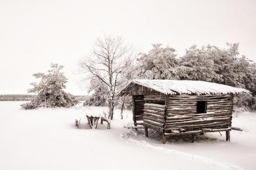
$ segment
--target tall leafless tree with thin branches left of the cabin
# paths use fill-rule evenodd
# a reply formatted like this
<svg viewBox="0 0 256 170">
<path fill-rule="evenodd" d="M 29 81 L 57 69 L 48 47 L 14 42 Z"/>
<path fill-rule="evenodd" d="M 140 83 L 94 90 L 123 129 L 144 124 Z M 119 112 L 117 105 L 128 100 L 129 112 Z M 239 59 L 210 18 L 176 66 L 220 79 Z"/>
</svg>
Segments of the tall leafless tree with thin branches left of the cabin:
<svg viewBox="0 0 256 170">
<path fill-rule="evenodd" d="M 98 78 L 108 87 L 106 94 L 109 106 L 109 118 L 113 118 L 117 104 L 117 90 L 123 83 L 123 72 L 129 69 L 133 56 L 133 48 L 125 44 L 122 37 L 104 36 L 94 44 L 91 56 L 81 61 L 81 70 Z"/>
</svg>

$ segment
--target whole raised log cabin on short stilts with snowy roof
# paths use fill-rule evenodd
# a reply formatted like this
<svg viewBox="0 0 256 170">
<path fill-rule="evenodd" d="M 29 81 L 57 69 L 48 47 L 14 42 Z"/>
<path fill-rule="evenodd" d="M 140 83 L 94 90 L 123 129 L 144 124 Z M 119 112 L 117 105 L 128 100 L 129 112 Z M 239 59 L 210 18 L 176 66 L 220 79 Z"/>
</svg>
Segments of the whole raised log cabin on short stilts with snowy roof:
<svg viewBox="0 0 256 170">
<path fill-rule="evenodd" d="M 233 94 L 249 92 L 223 84 L 193 80 L 132 80 L 120 95 L 133 98 L 134 125 L 166 136 L 226 131 L 230 141 Z M 138 127 L 138 126 L 137 126 Z M 136 127 L 135 127 L 136 128 Z"/>
</svg>

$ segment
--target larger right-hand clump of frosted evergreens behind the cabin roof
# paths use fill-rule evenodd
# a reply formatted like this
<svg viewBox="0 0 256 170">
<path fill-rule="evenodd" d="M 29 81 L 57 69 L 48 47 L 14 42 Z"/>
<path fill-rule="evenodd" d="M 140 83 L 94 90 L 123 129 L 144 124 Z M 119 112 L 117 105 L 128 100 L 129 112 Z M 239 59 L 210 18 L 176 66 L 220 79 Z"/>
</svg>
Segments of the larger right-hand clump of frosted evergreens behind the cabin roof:
<svg viewBox="0 0 256 170">
<path fill-rule="evenodd" d="M 181 57 L 179 65 L 187 70 L 180 79 L 205 80 L 250 90 L 252 94 L 235 96 L 237 107 L 253 109 L 256 107 L 256 67 L 245 56 L 239 56 L 238 43 L 227 43 L 227 49 L 216 46 L 189 48 Z"/>
</svg>

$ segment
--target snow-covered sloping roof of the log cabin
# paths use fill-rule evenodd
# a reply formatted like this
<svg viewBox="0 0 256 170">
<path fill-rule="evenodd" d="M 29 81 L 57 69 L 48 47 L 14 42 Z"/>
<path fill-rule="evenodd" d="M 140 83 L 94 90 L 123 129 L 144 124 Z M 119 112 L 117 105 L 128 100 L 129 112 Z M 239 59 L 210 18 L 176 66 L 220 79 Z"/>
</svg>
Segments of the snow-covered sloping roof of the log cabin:
<svg viewBox="0 0 256 170">
<path fill-rule="evenodd" d="M 207 95 L 207 94 L 238 94 L 248 93 L 250 91 L 243 88 L 236 88 L 226 86 L 224 84 L 210 83 L 196 80 L 159 80 L 159 79 L 134 79 L 119 93 L 124 91 L 131 84 L 138 84 L 158 91 L 166 95 L 181 95 L 181 94 L 196 94 L 196 95 Z"/>
</svg>

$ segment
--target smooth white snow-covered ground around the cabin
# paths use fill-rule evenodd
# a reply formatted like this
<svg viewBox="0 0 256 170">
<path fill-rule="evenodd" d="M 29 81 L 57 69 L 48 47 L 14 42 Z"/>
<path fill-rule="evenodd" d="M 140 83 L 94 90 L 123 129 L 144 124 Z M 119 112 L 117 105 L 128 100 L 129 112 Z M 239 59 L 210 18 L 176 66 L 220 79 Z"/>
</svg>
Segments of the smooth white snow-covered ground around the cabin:
<svg viewBox="0 0 256 170">
<path fill-rule="evenodd" d="M 231 142 L 225 133 L 167 138 L 149 131 L 123 128 L 116 110 L 111 129 L 98 124 L 89 129 L 85 113 L 101 113 L 103 107 L 71 109 L 19 109 L 20 101 L 0 102 L 0 169 L 256 169 L 256 113 L 233 116 Z M 81 129 L 75 119 L 82 118 Z"/>
</svg>

